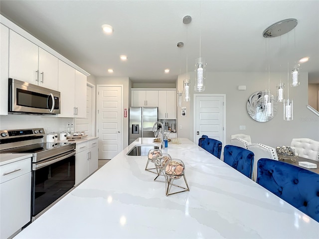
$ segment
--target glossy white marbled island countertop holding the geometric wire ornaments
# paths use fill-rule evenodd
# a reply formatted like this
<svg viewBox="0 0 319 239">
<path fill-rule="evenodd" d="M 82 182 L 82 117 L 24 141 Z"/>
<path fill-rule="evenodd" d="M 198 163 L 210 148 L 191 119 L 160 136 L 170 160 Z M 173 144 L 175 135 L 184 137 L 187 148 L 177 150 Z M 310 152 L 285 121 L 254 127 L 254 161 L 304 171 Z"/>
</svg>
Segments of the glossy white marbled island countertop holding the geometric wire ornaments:
<svg viewBox="0 0 319 239">
<path fill-rule="evenodd" d="M 188 139 L 164 152 L 184 162 L 190 191 L 166 197 L 147 156 L 126 155 L 152 141 L 137 139 L 15 238 L 319 238 L 318 222 Z"/>
</svg>

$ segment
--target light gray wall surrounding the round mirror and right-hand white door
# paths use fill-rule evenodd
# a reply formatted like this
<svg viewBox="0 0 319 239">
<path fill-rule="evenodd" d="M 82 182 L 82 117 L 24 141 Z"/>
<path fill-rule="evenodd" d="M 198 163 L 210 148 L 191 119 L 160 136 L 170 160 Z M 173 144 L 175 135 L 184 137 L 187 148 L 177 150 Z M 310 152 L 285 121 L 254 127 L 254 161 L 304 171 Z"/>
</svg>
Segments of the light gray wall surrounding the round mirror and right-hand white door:
<svg viewBox="0 0 319 239">
<path fill-rule="evenodd" d="M 187 107 L 187 116 L 180 116 L 177 112 L 178 137 L 187 137 L 193 140 L 193 94 L 194 73 L 188 73 L 191 79 L 191 102 L 182 103 Z M 282 81 L 287 85 L 286 74 L 282 74 Z M 276 96 L 276 84 L 279 83 L 281 74 L 271 73 L 271 92 Z M 178 77 L 177 90 L 182 90 L 182 81 L 185 75 Z M 263 91 L 268 77 L 265 73 L 258 72 L 206 72 L 206 90 L 202 94 L 226 95 L 226 142 L 230 143 L 230 135 L 245 133 L 251 136 L 252 142 L 264 143 L 272 147 L 290 145 L 292 138 L 308 137 L 319 141 L 319 118 L 307 109 L 308 104 L 308 74 L 301 73 L 301 85 L 290 87 L 290 97 L 294 100 L 294 120 L 283 119 L 283 105 L 278 103 L 277 115 L 268 122 L 257 122 L 252 119 L 246 110 L 249 96 L 254 92 Z M 245 91 L 237 90 L 240 85 L 245 85 Z M 267 84 L 268 85 L 268 84 Z M 196 92 L 196 94 L 200 94 Z M 287 94 L 287 88 L 286 88 Z M 179 129 L 182 125 L 182 129 Z M 239 130 L 239 125 L 246 125 L 246 130 Z"/>
</svg>

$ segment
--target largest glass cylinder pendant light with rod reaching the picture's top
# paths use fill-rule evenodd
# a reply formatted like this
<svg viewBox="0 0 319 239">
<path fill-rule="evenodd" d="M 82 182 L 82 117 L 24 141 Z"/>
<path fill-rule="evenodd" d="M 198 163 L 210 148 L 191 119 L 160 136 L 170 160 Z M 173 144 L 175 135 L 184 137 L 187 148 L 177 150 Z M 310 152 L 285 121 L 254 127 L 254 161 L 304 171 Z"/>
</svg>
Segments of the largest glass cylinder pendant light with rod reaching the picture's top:
<svg viewBox="0 0 319 239">
<path fill-rule="evenodd" d="M 206 62 L 203 57 L 200 56 L 201 53 L 201 29 L 200 29 L 200 1 L 199 1 L 199 58 L 195 60 L 195 86 L 194 90 L 196 92 L 205 91 L 205 68 Z"/>
</svg>

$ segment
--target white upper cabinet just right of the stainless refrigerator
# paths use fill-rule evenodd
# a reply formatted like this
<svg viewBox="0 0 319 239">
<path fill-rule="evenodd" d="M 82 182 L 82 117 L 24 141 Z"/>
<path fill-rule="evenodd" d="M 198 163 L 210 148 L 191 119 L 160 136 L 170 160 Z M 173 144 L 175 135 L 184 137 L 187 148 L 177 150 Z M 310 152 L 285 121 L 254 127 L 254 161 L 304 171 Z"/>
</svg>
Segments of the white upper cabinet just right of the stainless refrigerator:
<svg viewBox="0 0 319 239">
<path fill-rule="evenodd" d="M 159 91 L 159 119 L 176 119 L 176 91 Z"/>
</svg>

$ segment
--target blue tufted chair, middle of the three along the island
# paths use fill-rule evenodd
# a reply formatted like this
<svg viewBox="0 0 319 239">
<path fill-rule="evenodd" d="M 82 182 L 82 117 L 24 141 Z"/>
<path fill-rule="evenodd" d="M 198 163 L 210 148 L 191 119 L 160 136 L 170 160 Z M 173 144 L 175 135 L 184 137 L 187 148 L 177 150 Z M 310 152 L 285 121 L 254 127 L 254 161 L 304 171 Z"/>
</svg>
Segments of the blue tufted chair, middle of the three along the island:
<svg viewBox="0 0 319 239">
<path fill-rule="evenodd" d="M 224 162 L 245 176 L 252 178 L 254 165 L 252 151 L 235 145 L 226 145 L 224 147 Z"/>
</svg>

